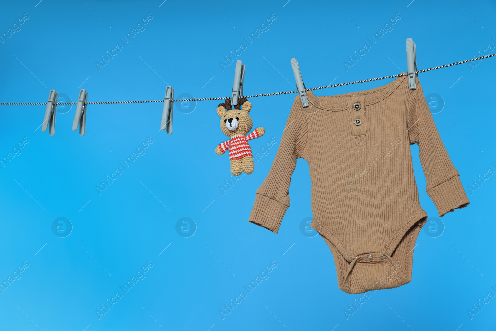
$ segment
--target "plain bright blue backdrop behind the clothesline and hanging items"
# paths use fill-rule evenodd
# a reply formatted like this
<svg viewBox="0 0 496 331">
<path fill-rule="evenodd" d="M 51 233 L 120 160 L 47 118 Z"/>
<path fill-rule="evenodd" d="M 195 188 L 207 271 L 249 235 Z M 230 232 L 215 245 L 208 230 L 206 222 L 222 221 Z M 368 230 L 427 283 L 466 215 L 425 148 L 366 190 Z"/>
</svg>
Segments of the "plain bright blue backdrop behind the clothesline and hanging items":
<svg viewBox="0 0 496 331">
<path fill-rule="evenodd" d="M 2 1 L 1 34 L 23 13 L 29 19 L 0 46 L 0 102 L 46 102 L 50 89 L 75 102 L 80 88 L 89 101 L 159 100 L 167 85 L 176 97 L 230 96 L 234 65 L 223 71 L 219 63 L 247 45 L 244 38 L 272 13 L 269 30 L 239 56 L 247 66 L 245 94 L 294 90 L 293 57 L 310 88 L 406 71 L 408 37 L 417 43 L 419 69 L 496 46 L 494 1 L 161 2 Z M 95 62 L 148 13 L 145 30 L 99 71 Z M 393 30 L 347 71 L 343 63 L 395 13 L 401 19 Z M 277 235 L 247 219 L 279 142 L 222 195 L 231 174 L 228 157 L 214 152 L 226 139 L 215 113 L 219 101 L 197 102 L 189 114 L 193 105 L 182 105 L 183 113 L 176 103 L 172 135 L 159 132 L 162 103 L 89 105 L 83 137 L 70 129 L 75 106 L 60 108 L 54 136 L 37 129 L 45 106 L 0 106 L 1 157 L 29 139 L 0 170 L 0 280 L 29 263 L 0 294 L 0 329 L 494 330 L 496 299 L 472 319 L 468 313 L 489 292 L 496 295 L 496 177 L 469 190 L 488 168 L 496 170 L 496 59 L 475 64 L 419 75 L 426 95 L 437 93 L 444 103 L 434 121 L 471 203 L 442 218 L 441 236 L 420 233 L 411 283 L 369 292 L 348 319 L 344 311 L 363 294 L 339 290 L 327 245 L 300 231 L 311 217 L 305 160 L 292 177 L 291 208 Z M 254 151 L 271 137 L 280 141 L 294 97 L 250 100 L 254 127 L 266 129 L 250 142 Z M 146 153 L 99 196 L 95 186 L 147 137 L 153 143 Z M 412 157 L 421 204 L 434 219 L 416 145 Z M 58 217 L 73 226 L 65 238 L 52 232 Z M 196 224 L 189 238 L 176 231 L 182 217 Z M 95 310 L 148 261 L 146 278 L 99 319 Z M 272 261 L 270 277 L 223 319 L 219 310 Z"/>
</svg>

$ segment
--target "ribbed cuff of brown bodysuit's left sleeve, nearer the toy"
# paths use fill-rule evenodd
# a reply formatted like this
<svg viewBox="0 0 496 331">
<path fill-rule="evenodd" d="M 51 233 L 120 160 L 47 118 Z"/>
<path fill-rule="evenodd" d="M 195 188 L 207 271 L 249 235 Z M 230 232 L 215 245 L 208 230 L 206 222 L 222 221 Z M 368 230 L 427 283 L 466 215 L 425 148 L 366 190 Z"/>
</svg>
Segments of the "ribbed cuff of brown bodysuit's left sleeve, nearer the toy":
<svg viewBox="0 0 496 331">
<path fill-rule="evenodd" d="M 284 214 L 286 213 L 286 209 L 288 209 L 287 205 L 261 194 L 257 194 L 248 222 L 263 226 L 264 228 L 277 233 Z"/>
</svg>

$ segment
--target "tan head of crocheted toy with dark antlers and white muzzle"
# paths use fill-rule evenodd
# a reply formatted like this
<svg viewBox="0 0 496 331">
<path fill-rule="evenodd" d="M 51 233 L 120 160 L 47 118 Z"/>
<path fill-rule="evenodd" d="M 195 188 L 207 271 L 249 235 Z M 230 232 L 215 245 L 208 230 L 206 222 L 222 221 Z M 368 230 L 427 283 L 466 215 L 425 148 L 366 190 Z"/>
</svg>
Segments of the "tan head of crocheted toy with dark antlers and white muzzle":
<svg viewBox="0 0 496 331">
<path fill-rule="evenodd" d="M 220 116 L 220 128 L 228 137 L 234 135 L 246 135 L 253 126 L 251 117 L 248 115 L 251 103 L 246 98 L 238 99 L 238 105 L 231 106 L 231 99 L 217 107 L 217 115 Z"/>
</svg>

